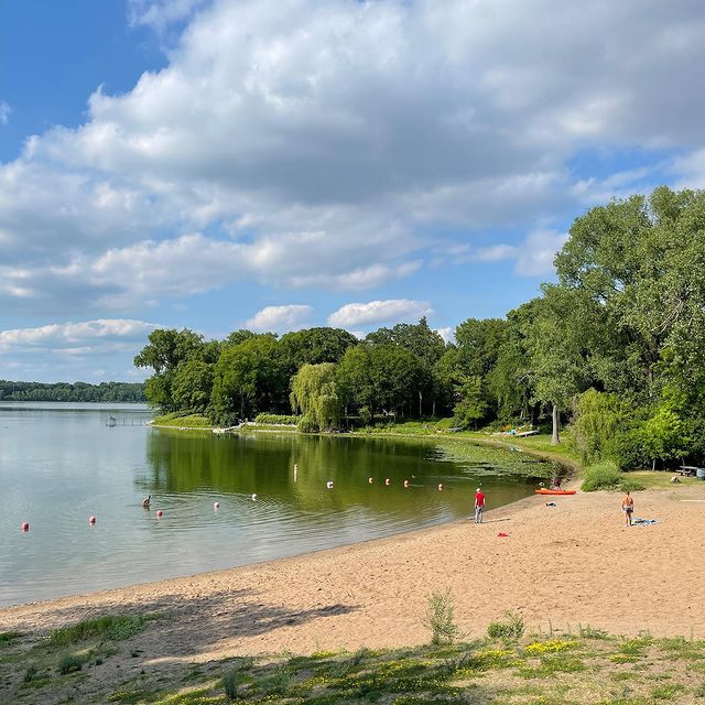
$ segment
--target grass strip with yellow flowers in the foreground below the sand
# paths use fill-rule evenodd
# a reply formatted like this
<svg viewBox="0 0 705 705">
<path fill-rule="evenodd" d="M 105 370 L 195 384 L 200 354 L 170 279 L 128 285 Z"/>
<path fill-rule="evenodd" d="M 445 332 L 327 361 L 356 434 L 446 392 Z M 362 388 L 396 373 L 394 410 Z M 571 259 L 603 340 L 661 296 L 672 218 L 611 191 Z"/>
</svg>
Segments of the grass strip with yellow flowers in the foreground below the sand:
<svg viewBox="0 0 705 705">
<path fill-rule="evenodd" d="M 84 620 L 34 646 L 17 637 L 6 639 L 0 702 L 679 705 L 705 697 L 704 674 L 693 668 L 705 663 L 705 641 L 684 637 L 622 638 L 586 627 L 582 636 L 556 630 L 536 638 L 522 636 L 523 629 L 517 627 L 520 618 L 510 616 L 498 622 L 514 625 L 509 636 L 502 631 L 499 638 L 470 642 L 355 652 L 318 650 L 310 655 L 238 657 L 198 664 L 147 658 L 129 671 L 130 653 L 142 651 L 134 638 L 145 622 L 126 617 Z M 100 677 L 91 680 L 98 661 L 94 643 L 100 639 L 121 649 L 122 668 L 104 666 Z M 7 660 L 7 655 L 22 658 Z"/>
</svg>

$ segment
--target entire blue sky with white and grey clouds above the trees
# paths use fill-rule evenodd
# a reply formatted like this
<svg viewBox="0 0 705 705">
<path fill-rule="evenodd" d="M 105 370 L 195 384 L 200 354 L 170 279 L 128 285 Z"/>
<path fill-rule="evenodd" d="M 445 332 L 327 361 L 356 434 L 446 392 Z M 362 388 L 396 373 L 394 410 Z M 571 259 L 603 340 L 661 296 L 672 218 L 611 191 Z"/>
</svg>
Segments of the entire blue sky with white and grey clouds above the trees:
<svg viewBox="0 0 705 705">
<path fill-rule="evenodd" d="M 699 0 L 0 0 L 0 379 L 503 316 L 588 208 L 705 187 L 704 69 Z"/>
</svg>

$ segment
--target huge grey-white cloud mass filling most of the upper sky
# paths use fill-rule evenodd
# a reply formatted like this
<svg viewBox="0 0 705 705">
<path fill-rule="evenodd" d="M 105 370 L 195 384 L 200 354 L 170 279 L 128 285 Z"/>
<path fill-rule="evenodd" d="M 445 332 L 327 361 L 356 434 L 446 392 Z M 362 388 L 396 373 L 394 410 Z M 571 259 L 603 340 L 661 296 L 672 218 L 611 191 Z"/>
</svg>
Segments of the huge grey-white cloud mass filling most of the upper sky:
<svg viewBox="0 0 705 705">
<path fill-rule="evenodd" d="M 702 180 L 697 0 L 129 11 L 187 26 L 165 68 L 96 90 L 85 124 L 0 164 L 1 303 L 124 307 L 243 280 L 373 289 L 416 271 L 440 229 L 470 245 L 487 228 L 523 235 L 648 182 L 577 175 L 585 151 L 677 152 L 674 178 Z M 517 253 L 518 273 L 542 271 L 542 242 Z"/>
</svg>

